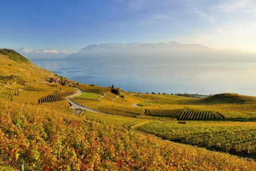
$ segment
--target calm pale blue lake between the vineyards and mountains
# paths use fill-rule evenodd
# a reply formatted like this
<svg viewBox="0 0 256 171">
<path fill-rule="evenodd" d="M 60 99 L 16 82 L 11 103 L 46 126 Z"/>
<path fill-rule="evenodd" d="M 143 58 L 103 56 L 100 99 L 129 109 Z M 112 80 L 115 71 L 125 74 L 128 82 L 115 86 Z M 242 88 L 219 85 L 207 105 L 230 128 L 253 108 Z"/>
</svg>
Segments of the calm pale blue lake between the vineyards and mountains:
<svg viewBox="0 0 256 171">
<path fill-rule="evenodd" d="M 143 93 L 234 92 L 256 96 L 256 63 L 111 63 L 33 61 L 68 79 Z"/>
</svg>

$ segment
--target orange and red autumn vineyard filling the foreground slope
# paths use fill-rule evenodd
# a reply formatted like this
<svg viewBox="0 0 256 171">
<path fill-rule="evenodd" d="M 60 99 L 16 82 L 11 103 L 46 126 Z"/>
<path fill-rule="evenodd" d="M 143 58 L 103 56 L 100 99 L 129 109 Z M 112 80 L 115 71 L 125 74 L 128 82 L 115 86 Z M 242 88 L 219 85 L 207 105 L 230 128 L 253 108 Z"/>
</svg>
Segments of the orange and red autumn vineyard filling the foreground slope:
<svg viewBox="0 0 256 171">
<path fill-rule="evenodd" d="M 143 136 L 121 126 L 124 123 L 124 127 L 131 128 L 141 124 L 142 120 L 133 119 L 129 124 L 128 117 L 118 119 L 120 116 L 113 116 L 113 119 L 105 118 L 103 123 L 99 123 L 87 120 L 86 113 L 76 116 L 51 105 L 0 100 L 0 106 L 0 170 L 7 166 L 9 170 L 19 169 L 21 164 L 26 170 L 256 168 L 254 161 L 156 140 L 153 136 Z M 89 117 L 95 117 L 94 113 Z M 109 123 L 111 120 L 113 124 Z"/>
</svg>

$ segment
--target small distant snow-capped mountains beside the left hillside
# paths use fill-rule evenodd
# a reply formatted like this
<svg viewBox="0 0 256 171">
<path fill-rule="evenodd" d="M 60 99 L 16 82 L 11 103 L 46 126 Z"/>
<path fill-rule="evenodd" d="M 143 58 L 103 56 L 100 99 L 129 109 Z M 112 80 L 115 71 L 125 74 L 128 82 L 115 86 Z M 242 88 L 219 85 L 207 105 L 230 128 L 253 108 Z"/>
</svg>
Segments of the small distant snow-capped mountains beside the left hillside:
<svg viewBox="0 0 256 171">
<path fill-rule="evenodd" d="M 16 48 L 15 51 L 25 56 L 29 60 L 65 60 L 70 54 L 66 51 L 48 50 L 31 50 L 25 47 Z"/>
</svg>

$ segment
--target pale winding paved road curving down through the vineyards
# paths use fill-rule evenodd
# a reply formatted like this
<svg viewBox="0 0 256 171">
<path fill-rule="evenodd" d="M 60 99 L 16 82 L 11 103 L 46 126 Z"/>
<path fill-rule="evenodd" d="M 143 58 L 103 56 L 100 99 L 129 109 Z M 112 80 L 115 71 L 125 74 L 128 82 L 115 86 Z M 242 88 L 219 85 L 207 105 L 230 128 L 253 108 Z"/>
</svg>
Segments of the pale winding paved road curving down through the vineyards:
<svg viewBox="0 0 256 171">
<path fill-rule="evenodd" d="M 84 109 L 84 110 L 89 111 L 89 112 L 101 113 L 101 114 L 105 114 L 105 115 L 112 115 L 112 114 L 109 114 L 109 113 L 104 113 L 104 112 L 96 111 L 95 109 L 88 108 L 86 106 L 77 104 L 74 101 L 70 100 L 70 97 L 75 97 L 75 96 L 79 96 L 79 95 L 82 94 L 82 91 L 79 88 L 75 88 L 75 89 L 78 89 L 78 93 L 66 97 L 66 100 L 68 101 L 68 103 L 70 103 L 72 105 L 71 108 L 73 108 L 75 110 L 75 114 L 79 114 L 79 113 L 76 112 L 76 111 L 79 111 L 79 109 Z"/>
</svg>

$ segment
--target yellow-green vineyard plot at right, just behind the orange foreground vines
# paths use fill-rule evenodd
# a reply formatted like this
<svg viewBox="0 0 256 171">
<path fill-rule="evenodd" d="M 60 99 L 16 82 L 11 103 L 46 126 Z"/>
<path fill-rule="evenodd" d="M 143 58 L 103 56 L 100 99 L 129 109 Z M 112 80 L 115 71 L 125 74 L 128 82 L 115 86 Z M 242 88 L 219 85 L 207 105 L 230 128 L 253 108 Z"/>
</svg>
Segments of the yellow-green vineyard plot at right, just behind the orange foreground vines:
<svg viewBox="0 0 256 171">
<path fill-rule="evenodd" d="M 152 121 L 138 127 L 137 130 L 179 143 L 200 145 L 208 149 L 228 152 L 246 152 L 256 154 L 255 123 L 198 123 Z M 256 157 L 256 156 L 255 156 Z"/>
</svg>

